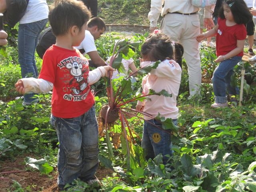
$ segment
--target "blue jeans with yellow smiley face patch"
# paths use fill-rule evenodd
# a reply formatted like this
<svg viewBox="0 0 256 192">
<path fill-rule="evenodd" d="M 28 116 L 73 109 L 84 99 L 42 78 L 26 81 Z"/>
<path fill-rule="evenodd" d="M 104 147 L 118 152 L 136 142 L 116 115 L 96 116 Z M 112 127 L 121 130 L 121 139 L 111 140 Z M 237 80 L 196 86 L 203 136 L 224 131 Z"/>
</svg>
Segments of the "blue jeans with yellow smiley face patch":
<svg viewBox="0 0 256 192">
<path fill-rule="evenodd" d="M 172 122 L 177 125 L 177 119 Z M 168 130 L 163 130 L 162 124 L 154 119 L 144 121 L 141 146 L 146 153 L 146 160 L 154 159 L 161 153 L 163 163 L 166 164 L 168 161 L 166 155 L 172 155 L 171 133 Z"/>
</svg>

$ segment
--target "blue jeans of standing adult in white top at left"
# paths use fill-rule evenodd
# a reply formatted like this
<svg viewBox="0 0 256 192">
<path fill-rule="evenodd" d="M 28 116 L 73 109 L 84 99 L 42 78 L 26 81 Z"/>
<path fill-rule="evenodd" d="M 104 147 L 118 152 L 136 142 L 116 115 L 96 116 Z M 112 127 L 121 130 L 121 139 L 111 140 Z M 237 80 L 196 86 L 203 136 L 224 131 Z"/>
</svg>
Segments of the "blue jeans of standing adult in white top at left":
<svg viewBox="0 0 256 192">
<path fill-rule="evenodd" d="M 38 44 L 40 32 L 46 26 L 48 19 L 20 24 L 18 30 L 18 61 L 21 68 L 22 78 L 37 77 L 38 70 L 36 67 L 35 51 Z M 35 98 L 34 93 L 24 95 L 24 103 L 30 104 Z"/>
</svg>

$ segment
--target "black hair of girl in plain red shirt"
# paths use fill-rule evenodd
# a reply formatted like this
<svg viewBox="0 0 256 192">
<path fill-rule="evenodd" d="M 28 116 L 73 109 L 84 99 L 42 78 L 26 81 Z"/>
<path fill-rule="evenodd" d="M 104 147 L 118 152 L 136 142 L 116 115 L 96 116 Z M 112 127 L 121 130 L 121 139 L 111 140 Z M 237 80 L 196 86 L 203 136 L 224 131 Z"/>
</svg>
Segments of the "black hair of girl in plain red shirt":
<svg viewBox="0 0 256 192">
<path fill-rule="evenodd" d="M 228 4 L 236 24 L 246 24 L 252 19 L 252 14 L 244 0 L 224 0 L 218 14 L 220 18 L 225 18 L 223 8 L 224 4 Z"/>
</svg>

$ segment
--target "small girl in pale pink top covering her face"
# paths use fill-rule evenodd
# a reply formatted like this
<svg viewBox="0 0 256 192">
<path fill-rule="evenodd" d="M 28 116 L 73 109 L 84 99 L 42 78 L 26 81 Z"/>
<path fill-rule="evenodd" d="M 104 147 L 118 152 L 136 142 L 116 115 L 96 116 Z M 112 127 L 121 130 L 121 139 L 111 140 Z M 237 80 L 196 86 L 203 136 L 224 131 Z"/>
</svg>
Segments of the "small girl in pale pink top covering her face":
<svg viewBox="0 0 256 192">
<path fill-rule="evenodd" d="M 143 93 L 148 94 L 150 89 L 155 92 L 166 90 L 168 94 L 172 94 L 172 97 L 148 96 L 148 99 L 138 101 L 137 110 L 146 112 L 152 117 L 160 114 L 165 119 L 171 118 L 173 123 L 177 125 L 176 97 L 180 88 L 181 67 L 174 59 L 181 63 L 182 54 L 182 45 L 172 43 L 164 34 L 154 32 L 146 39 L 141 47 L 140 67 L 145 67 L 158 60 L 161 62 L 156 69 L 152 69 L 150 73 L 144 76 L 142 80 Z M 172 155 L 171 134 L 169 130 L 163 130 L 161 122 L 152 117 L 144 115 L 142 148 L 146 152 L 147 160 L 153 159 L 161 153 L 163 163 L 166 164 L 168 156 Z"/>
</svg>

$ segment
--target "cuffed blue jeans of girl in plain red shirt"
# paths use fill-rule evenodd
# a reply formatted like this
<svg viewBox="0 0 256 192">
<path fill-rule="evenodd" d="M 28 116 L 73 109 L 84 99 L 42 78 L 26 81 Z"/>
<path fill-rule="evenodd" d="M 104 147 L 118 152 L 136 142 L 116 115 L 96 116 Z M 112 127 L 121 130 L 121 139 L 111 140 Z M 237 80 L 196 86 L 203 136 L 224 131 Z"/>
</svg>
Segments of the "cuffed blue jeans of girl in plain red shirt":
<svg viewBox="0 0 256 192">
<path fill-rule="evenodd" d="M 241 56 L 234 56 L 220 62 L 216 67 L 212 77 L 213 91 L 216 103 L 226 103 L 226 92 L 230 95 L 238 95 L 239 88 L 231 86 L 231 76 L 234 73 L 234 67 L 242 60 Z"/>
</svg>

